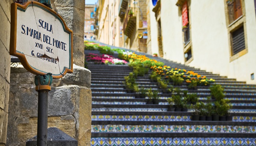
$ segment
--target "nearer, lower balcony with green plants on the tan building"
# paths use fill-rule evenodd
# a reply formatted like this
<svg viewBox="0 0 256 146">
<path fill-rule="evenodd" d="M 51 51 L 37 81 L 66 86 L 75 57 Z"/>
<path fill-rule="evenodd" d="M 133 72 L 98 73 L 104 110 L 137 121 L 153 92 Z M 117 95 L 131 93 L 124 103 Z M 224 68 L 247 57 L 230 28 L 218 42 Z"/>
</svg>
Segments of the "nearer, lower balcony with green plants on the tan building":
<svg viewBox="0 0 256 146">
<path fill-rule="evenodd" d="M 136 8 L 129 8 L 126 14 L 125 22 L 123 23 L 123 29 L 125 30 L 125 35 L 129 38 L 133 33 L 133 29 L 136 28 Z"/>
</svg>

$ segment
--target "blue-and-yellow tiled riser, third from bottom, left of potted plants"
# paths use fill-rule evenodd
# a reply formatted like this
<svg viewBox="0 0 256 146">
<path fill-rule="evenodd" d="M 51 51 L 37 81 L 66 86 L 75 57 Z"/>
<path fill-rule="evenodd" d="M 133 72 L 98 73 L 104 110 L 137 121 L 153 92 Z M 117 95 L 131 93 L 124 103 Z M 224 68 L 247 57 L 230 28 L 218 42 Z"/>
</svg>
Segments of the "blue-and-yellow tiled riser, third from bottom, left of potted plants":
<svg viewBox="0 0 256 146">
<path fill-rule="evenodd" d="M 191 121 L 179 115 L 92 115 L 92 121 Z"/>
</svg>

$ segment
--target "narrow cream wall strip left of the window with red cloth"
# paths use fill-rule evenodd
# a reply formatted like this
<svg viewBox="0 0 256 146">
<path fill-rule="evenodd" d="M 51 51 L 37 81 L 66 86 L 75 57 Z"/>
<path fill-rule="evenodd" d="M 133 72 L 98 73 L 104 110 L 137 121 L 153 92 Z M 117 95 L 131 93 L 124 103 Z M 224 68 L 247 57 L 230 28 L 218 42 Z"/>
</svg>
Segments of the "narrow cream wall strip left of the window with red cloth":
<svg viewBox="0 0 256 146">
<path fill-rule="evenodd" d="M 175 0 L 161 0 L 161 3 L 163 58 L 184 63 L 182 19 L 179 8 L 175 5 Z"/>
</svg>

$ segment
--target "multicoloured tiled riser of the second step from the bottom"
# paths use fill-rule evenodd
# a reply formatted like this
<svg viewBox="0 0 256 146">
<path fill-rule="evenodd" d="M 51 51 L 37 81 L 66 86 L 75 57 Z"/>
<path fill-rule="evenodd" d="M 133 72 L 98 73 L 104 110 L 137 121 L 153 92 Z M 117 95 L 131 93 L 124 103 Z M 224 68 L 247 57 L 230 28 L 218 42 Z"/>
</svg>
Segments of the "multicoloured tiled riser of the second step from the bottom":
<svg viewBox="0 0 256 146">
<path fill-rule="evenodd" d="M 92 132 L 256 133 L 256 126 L 230 125 L 92 125 Z"/>
</svg>

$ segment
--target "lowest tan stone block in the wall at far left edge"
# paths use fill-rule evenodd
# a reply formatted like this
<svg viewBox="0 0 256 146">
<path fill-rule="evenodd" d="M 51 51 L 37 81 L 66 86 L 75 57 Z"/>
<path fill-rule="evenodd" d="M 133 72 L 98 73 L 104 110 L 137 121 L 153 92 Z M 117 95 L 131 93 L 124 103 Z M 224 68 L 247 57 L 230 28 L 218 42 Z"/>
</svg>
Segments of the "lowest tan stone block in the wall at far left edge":
<svg viewBox="0 0 256 146">
<path fill-rule="evenodd" d="M 6 143 L 8 114 L 0 109 L 0 143 Z"/>
</svg>

